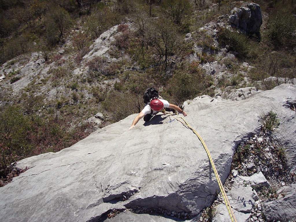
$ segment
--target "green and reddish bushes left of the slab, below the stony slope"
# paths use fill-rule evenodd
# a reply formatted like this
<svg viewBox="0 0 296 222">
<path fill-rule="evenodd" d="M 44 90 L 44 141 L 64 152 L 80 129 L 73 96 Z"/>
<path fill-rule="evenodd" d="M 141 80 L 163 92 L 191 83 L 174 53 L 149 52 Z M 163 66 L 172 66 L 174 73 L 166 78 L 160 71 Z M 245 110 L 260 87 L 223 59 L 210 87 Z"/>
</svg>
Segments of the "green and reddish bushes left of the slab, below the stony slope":
<svg viewBox="0 0 296 222">
<path fill-rule="evenodd" d="M 70 121 L 64 121 L 57 116 L 44 119 L 36 115 L 23 115 L 18 106 L 1 110 L 0 186 L 22 172 L 15 168 L 15 161 L 70 147 L 89 134 L 86 129 L 93 127 L 89 124 L 69 130 Z"/>
</svg>

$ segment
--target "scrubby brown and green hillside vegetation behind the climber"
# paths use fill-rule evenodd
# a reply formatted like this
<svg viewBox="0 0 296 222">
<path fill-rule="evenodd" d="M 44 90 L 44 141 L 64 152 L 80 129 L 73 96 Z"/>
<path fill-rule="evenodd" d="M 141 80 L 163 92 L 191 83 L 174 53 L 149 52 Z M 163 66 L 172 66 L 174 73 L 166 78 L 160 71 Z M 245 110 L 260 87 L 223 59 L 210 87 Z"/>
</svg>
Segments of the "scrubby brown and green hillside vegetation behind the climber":
<svg viewBox="0 0 296 222">
<path fill-rule="evenodd" d="M 210 21 L 229 14 L 241 2 L 230 0 L 0 0 L 0 64 L 26 64 L 32 52 L 41 52 L 47 64 L 55 62 L 41 81 L 32 81 L 19 94 L 0 90 L 0 177 L 6 181 L 10 163 L 44 152 L 57 152 L 83 139 L 95 128 L 84 120 L 96 112 L 107 117 L 102 126 L 143 108 L 142 94 L 150 86 L 172 103 L 198 95 L 214 95 L 214 87 L 251 86 L 272 89 L 296 76 L 296 2 L 254 1 L 261 6 L 260 38 L 221 28 L 213 36 L 199 32 Z M 246 2 L 248 3 L 248 2 Z M 106 57 L 94 57 L 80 68 L 89 46 L 114 25 Z M 192 33 L 192 40 L 185 38 Z M 201 53 L 194 46 L 202 48 Z M 219 48 L 228 46 L 235 59 L 223 59 Z M 65 49 L 65 57 L 57 51 Z M 191 57 L 197 57 L 192 62 Z M 218 61 L 233 74 L 215 82 L 201 65 Z M 243 76 L 241 62 L 256 67 Z M 6 76 L 20 80 L 17 70 Z M 104 82 L 105 81 L 105 82 Z M 107 82 L 106 82 L 107 81 Z M 56 98 L 41 94 L 56 89 Z M 249 86 L 249 85 L 248 85 Z M 128 105 L 127 105 L 128 104 Z M 102 127 L 101 126 L 101 127 Z"/>
</svg>

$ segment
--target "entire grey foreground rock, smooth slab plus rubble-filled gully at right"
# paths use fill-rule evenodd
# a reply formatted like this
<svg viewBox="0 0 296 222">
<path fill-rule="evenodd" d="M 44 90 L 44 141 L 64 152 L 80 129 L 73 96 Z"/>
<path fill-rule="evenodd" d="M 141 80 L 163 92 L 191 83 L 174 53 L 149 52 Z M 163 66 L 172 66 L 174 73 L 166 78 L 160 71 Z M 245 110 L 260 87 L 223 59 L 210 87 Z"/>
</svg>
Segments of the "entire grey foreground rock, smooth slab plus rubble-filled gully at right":
<svg viewBox="0 0 296 222">
<path fill-rule="evenodd" d="M 295 178 L 285 173 L 293 175 L 295 170 L 295 92 L 294 85 L 282 84 L 245 100 L 200 96 L 184 103 L 189 114 L 186 121 L 209 147 L 221 181 L 228 181 L 226 188 L 237 221 L 295 218 L 295 197 L 289 191 L 294 189 Z M 261 116 L 270 110 L 279 114 L 279 135 L 274 136 L 277 143 L 261 131 Z M 0 188 L 1 218 L 47 221 L 55 215 L 57 221 L 104 221 L 108 217 L 112 221 L 200 221 L 205 207 L 221 201 L 200 141 L 166 115 L 157 115 L 151 123 L 141 122 L 128 131 L 135 115 L 60 152 L 20 161 L 19 168 L 29 169 Z M 287 140 L 287 135 L 291 139 Z M 231 166 L 237 146 L 247 144 L 251 144 L 250 154 Z M 259 144 L 262 156 L 252 153 L 252 146 Z M 275 155 L 277 144 L 283 145 L 286 162 Z M 261 194 L 271 188 L 274 190 L 263 198 Z M 291 208 L 286 207 L 285 215 L 282 209 L 272 207 L 287 200 Z M 217 209 L 216 221 L 228 221 L 223 204 Z"/>
</svg>

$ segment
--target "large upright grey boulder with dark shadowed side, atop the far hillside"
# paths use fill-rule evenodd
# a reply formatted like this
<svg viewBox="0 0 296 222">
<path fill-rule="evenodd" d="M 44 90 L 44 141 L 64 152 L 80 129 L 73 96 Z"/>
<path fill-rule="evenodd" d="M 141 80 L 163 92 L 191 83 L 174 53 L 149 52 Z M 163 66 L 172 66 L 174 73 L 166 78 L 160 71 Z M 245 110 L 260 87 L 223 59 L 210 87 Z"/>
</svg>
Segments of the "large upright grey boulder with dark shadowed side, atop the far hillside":
<svg viewBox="0 0 296 222">
<path fill-rule="evenodd" d="M 234 8 L 229 16 L 230 23 L 247 34 L 258 34 L 262 25 L 261 9 L 258 4 L 249 3 Z"/>
</svg>

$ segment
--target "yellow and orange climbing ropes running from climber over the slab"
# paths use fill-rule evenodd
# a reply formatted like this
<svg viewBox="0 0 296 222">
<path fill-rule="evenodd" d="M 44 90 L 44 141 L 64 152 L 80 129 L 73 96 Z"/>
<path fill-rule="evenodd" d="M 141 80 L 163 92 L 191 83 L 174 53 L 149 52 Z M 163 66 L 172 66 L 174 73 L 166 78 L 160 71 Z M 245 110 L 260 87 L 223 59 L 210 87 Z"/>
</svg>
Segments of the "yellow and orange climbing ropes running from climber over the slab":
<svg viewBox="0 0 296 222">
<path fill-rule="evenodd" d="M 233 211 L 232 211 L 232 209 L 231 209 L 231 206 L 230 206 L 230 203 L 229 203 L 228 197 L 227 197 L 227 195 L 226 195 L 226 192 L 225 192 L 225 190 L 224 190 L 223 184 L 222 184 L 222 182 L 221 182 L 221 180 L 220 180 L 220 177 L 219 177 L 219 175 L 218 175 L 218 171 L 217 171 L 217 169 L 216 169 L 216 167 L 215 167 L 215 164 L 214 164 L 214 162 L 213 162 L 213 159 L 212 159 L 212 157 L 211 157 L 211 155 L 210 155 L 210 151 L 209 151 L 209 149 L 207 148 L 207 146 L 206 146 L 205 142 L 203 141 L 203 139 L 200 137 L 200 135 L 197 133 L 197 131 L 195 131 L 195 130 L 194 130 L 194 129 L 193 129 L 193 128 L 192 128 L 192 127 L 186 122 L 186 120 L 185 120 L 183 117 L 181 117 L 181 116 L 178 117 L 178 113 L 176 114 L 177 117 L 174 117 L 174 116 L 171 115 L 170 113 L 166 112 L 164 109 L 162 110 L 162 112 L 165 113 L 165 114 L 167 114 L 167 115 L 169 115 L 169 116 L 171 116 L 171 117 L 173 117 L 174 120 L 178 120 L 178 121 L 179 121 L 180 123 L 182 123 L 184 126 L 187 126 L 189 129 L 191 129 L 191 130 L 194 132 L 195 135 L 197 135 L 198 139 L 199 139 L 199 140 L 201 141 L 201 143 L 202 143 L 202 146 L 205 148 L 205 151 L 207 152 L 207 156 L 208 156 L 208 158 L 209 158 L 209 160 L 210 160 L 210 163 L 211 163 L 211 165 L 212 165 L 212 168 L 213 168 L 213 170 L 214 170 L 215 177 L 216 177 L 217 182 L 218 182 L 218 185 L 219 185 L 219 187 L 220 187 L 220 190 L 221 190 L 221 193 L 222 193 L 222 196 L 223 196 L 223 199 L 224 199 L 225 205 L 226 205 L 226 207 L 227 207 L 227 210 L 228 210 L 228 213 L 229 213 L 230 219 L 231 219 L 232 222 L 237 222 L 236 219 L 235 219 L 234 213 L 233 213 Z M 179 120 L 178 118 L 181 118 L 184 122 L 182 122 L 182 121 Z M 173 120 L 169 121 L 169 123 L 171 123 L 172 121 L 173 121 Z"/>
</svg>

